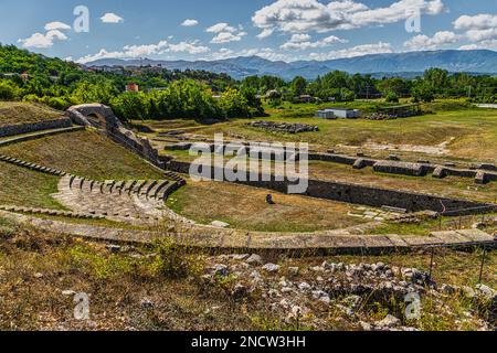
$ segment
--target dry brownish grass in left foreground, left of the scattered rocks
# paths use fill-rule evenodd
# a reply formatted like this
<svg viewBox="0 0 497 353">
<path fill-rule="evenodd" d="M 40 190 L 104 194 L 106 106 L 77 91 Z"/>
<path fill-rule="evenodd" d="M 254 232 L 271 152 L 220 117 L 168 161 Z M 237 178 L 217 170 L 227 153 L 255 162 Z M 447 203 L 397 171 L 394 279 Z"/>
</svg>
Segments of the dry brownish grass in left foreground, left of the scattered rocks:
<svg viewBox="0 0 497 353">
<path fill-rule="evenodd" d="M 3 235 L 0 271 L 1 330 L 251 329 L 241 308 L 204 297 L 198 281 L 167 279 L 151 260 L 113 255 L 102 244 L 33 231 Z M 91 321 L 73 318 L 64 290 L 91 296 Z M 219 311 L 210 313 L 213 307 Z"/>
</svg>

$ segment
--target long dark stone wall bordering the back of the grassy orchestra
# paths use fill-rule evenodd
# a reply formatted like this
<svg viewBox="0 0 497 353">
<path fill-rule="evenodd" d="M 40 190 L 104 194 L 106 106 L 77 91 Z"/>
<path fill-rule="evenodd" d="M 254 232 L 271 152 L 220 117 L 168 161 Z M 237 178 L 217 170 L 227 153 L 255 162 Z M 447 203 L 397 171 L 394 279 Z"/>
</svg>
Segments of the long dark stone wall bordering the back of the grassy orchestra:
<svg viewBox="0 0 497 353">
<path fill-rule="evenodd" d="M 166 167 L 179 173 L 189 173 L 191 163 L 170 161 Z M 193 164 L 192 167 L 192 170 L 199 170 L 199 173 L 202 172 L 200 165 Z M 212 168 L 211 175 L 215 174 L 224 175 L 222 169 Z M 292 184 L 288 180 L 277 181 L 274 175 L 260 174 L 257 181 L 251 181 L 248 176 L 250 175 L 247 174 L 246 181 L 236 181 L 235 183 L 274 190 L 282 193 L 287 193 L 288 186 Z M 223 178 L 223 180 L 220 181 L 226 180 Z M 317 199 L 334 200 L 374 207 L 391 206 L 404 208 L 409 212 L 430 210 L 442 213 L 445 211 L 450 215 L 497 212 L 497 205 L 495 204 L 468 200 L 442 197 L 409 191 L 389 190 L 332 181 L 309 180 L 308 182 L 309 186 L 305 195 Z"/>
</svg>

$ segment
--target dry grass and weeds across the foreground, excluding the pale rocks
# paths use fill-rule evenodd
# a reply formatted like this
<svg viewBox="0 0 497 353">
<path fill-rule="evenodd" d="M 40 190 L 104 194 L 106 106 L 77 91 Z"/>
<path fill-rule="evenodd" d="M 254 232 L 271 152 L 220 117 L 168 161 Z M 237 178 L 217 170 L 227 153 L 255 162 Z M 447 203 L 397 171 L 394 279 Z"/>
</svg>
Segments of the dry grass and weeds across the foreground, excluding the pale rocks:
<svg viewBox="0 0 497 353">
<path fill-rule="evenodd" d="M 263 255 L 263 254 L 262 254 Z M 437 282 L 476 285 L 482 253 L 440 250 L 435 256 Z M 264 255 L 266 261 L 303 269 L 300 280 L 316 276 L 311 266 L 325 259 L 359 264 L 384 261 L 391 266 L 426 270 L 430 254 L 385 256 L 316 256 L 289 258 L 277 253 Z M 207 284 L 203 268 L 221 257 L 190 253 L 163 240 L 151 247 L 121 247 L 114 252 L 105 244 L 19 228 L 0 220 L 0 329 L 2 330 L 358 330 L 358 320 L 381 320 L 400 303 L 371 303 L 359 318 L 346 315 L 337 307 L 328 309 L 313 301 L 313 327 L 288 322 L 272 311 L 268 298 L 257 291 L 234 297 L 236 278 L 229 276 Z M 497 257 L 489 253 L 484 282 L 495 288 Z M 278 275 L 264 275 L 278 281 Z M 73 295 L 89 295 L 89 321 L 73 318 Z M 410 322 L 424 330 L 474 330 L 466 313 L 474 309 L 466 299 L 452 296 L 441 308 L 432 298 L 423 299 L 423 317 Z M 399 307 L 398 307 L 399 306 Z M 396 308 L 396 309 L 395 309 Z M 457 323 L 462 320 L 465 323 Z"/>
</svg>

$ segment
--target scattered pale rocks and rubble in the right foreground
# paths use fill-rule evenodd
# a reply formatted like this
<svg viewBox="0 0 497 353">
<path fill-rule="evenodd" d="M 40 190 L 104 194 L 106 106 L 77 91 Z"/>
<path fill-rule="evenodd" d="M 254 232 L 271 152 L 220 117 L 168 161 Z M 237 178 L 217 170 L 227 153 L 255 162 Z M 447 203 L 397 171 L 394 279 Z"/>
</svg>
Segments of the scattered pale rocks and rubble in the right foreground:
<svg viewBox="0 0 497 353">
<path fill-rule="evenodd" d="M 281 266 L 258 255 L 223 255 L 209 258 L 209 264 L 202 277 L 207 286 L 229 284 L 235 300 L 264 302 L 273 315 L 297 329 L 326 330 L 332 323 L 348 330 L 417 331 L 437 315 L 452 318 L 461 330 L 494 330 L 496 324 L 497 291 L 485 285 L 436 284 L 415 268 L 326 260 L 310 267 Z M 469 304 L 455 306 L 454 298 Z"/>
</svg>

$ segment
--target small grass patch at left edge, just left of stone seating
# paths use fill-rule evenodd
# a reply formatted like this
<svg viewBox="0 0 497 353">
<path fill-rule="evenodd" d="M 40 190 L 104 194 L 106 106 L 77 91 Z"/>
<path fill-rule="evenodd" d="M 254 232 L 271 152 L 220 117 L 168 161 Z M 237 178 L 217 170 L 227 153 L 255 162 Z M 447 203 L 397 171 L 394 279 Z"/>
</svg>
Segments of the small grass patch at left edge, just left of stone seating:
<svg viewBox="0 0 497 353">
<path fill-rule="evenodd" d="M 64 210 L 50 195 L 59 178 L 0 162 L 0 204 Z"/>
</svg>

